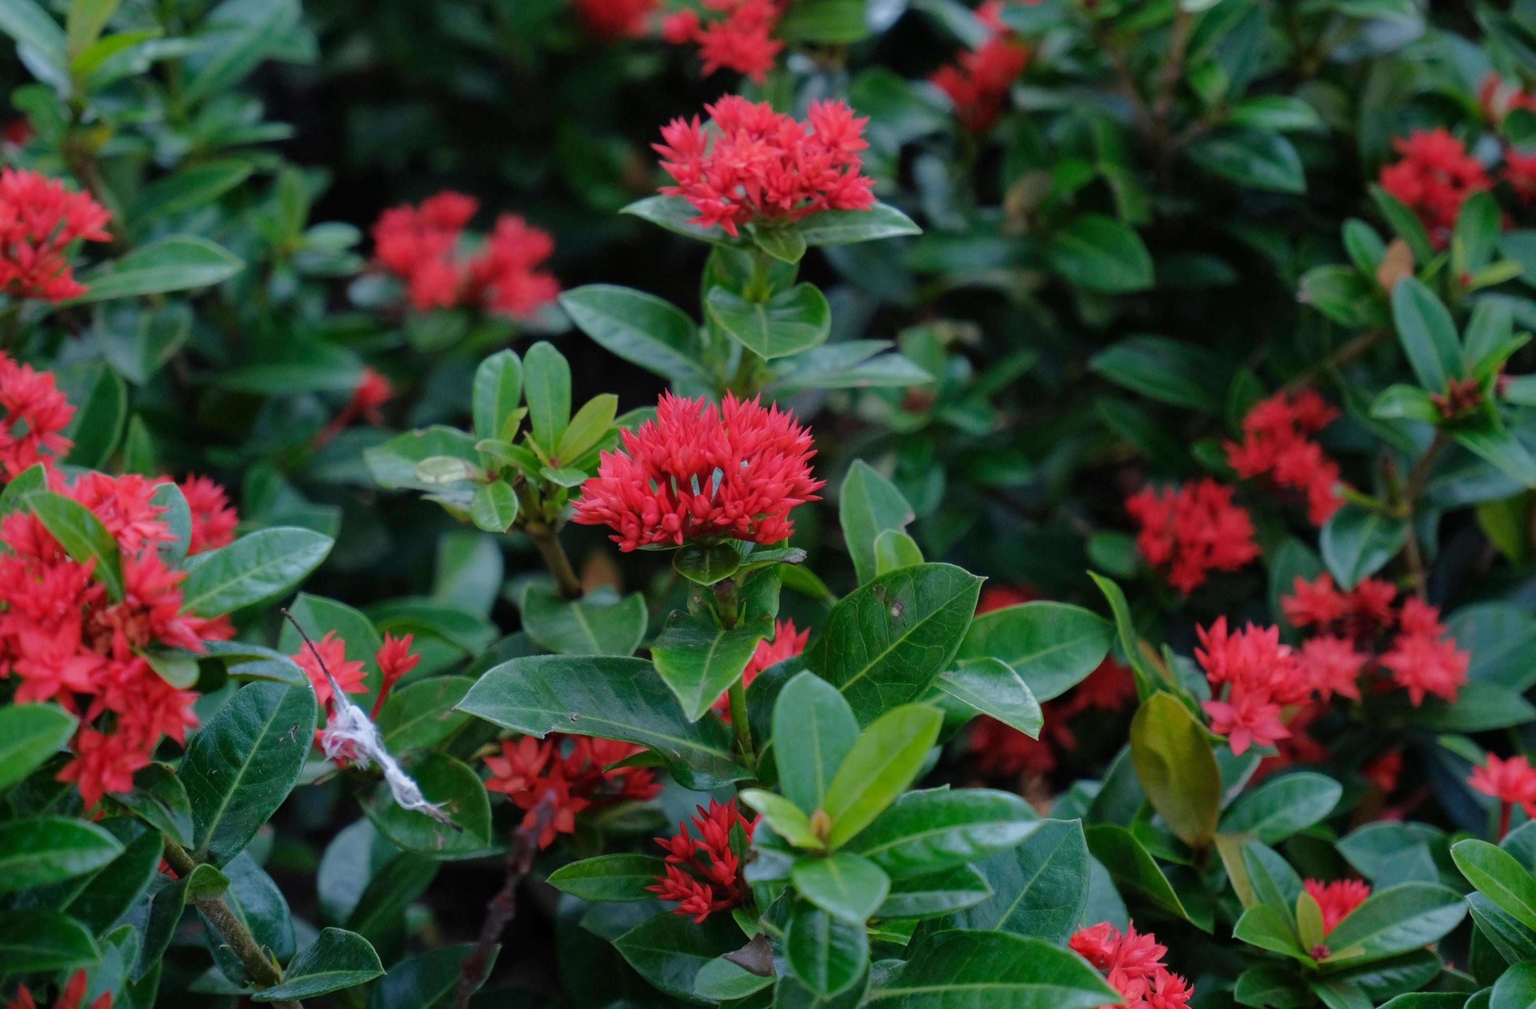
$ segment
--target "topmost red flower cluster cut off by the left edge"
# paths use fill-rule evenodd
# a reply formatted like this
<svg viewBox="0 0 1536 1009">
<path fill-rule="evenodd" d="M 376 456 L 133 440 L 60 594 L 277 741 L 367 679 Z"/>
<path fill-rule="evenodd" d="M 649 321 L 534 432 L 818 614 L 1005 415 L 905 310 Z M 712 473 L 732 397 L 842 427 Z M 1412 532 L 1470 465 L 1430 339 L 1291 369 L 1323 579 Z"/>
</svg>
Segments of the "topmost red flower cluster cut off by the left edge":
<svg viewBox="0 0 1536 1009">
<path fill-rule="evenodd" d="M 0 290 L 52 303 L 86 293 L 65 249 L 77 238 L 109 241 L 109 220 L 91 194 L 38 172 L 0 169 Z"/>
</svg>

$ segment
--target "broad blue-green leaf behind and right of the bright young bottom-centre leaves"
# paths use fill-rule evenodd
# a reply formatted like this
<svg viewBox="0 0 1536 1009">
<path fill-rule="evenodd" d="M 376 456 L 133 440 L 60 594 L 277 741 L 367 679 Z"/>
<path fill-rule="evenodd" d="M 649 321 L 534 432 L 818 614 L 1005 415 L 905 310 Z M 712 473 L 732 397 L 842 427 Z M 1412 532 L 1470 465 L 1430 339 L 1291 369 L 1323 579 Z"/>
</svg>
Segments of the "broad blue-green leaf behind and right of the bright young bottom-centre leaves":
<svg viewBox="0 0 1536 1009">
<path fill-rule="evenodd" d="M 1077 820 L 1043 820 L 1012 851 L 1001 851 L 975 865 L 992 888 L 992 897 L 946 918 L 943 925 L 1001 929 L 1064 944 L 1087 912 L 1089 866 L 1083 825 Z M 902 880 L 897 883 L 900 886 Z"/>
</svg>

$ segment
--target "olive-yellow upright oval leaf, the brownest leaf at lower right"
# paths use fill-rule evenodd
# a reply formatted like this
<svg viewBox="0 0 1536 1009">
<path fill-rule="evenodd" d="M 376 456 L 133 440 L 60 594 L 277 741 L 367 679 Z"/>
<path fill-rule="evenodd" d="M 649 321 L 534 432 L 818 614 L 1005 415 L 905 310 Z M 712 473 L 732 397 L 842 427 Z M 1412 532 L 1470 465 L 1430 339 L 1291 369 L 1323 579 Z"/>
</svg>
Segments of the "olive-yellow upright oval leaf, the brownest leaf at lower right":
<svg viewBox="0 0 1536 1009">
<path fill-rule="evenodd" d="M 1206 726 L 1174 694 L 1147 697 L 1130 722 L 1130 760 L 1174 835 L 1204 848 L 1217 832 L 1221 771 Z"/>
</svg>

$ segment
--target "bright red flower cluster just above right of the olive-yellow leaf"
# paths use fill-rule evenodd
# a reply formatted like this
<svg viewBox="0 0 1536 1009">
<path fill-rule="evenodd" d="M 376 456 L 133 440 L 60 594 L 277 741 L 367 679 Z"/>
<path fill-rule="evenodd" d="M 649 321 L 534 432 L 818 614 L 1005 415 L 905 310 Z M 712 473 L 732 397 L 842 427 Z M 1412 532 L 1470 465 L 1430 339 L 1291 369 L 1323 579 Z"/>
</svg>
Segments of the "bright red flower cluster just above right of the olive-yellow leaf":
<svg viewBox="0 0 1536 1009">
<path fill-rule="evenodd" d="M 1307 699 L 1312 683 L 1289 645 L 1279 643 L 1279 628 L 1249 624 L 1236 634 L 1227 633 L 1227 619 L 1217 617 L 1209 628 L 1197 627 L 1200 660 L 1212 693 L 1226 686 L 1220 699 L 1204 702 L 1210 729 L 1227 737 L 1232 753 L 1249 746 L 1273 745 L 1290 736 L 1279 720 L 1287 705 Z"/>
</svg>

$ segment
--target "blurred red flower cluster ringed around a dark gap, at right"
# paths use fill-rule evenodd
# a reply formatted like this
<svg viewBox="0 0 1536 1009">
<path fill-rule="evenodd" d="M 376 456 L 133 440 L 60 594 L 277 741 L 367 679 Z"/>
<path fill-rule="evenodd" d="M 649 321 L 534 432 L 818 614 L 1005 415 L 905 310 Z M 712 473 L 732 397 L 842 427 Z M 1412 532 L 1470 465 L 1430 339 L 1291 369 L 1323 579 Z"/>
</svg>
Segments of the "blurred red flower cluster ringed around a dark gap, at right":
<svg viewBox="0 0 1536 1009">
<path fill-rule="evenodd" d="M 1315 636 L 1303 645 L 1301 662 L 1319 690 L 1327 682 L 1332 693 L 1359 697 L 1356 680 L 1372 662 L 1407 690 L 1415 705 L 1425 694 L 1455 700 L 1456 690 L 1467 682 L 1471 656 L 1445 636 L 1436 607 L 1409 596 L 1395 610 L 1398 590 L 1370 577 L 1347 593 L 1338 591 L 1329 574 L 1312 582 L 1296 577 L 1292 591 L 1279 607 L 1287 620 L 1313 630 Z M 1389 639 L 1393 630 L 1396 636 Z"/>
</svg>

